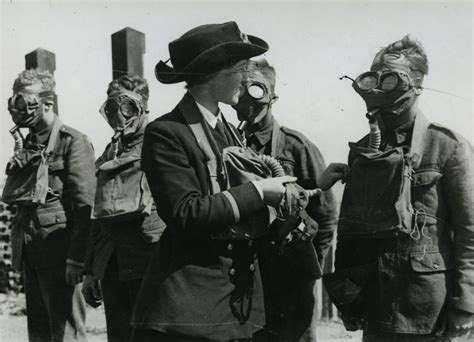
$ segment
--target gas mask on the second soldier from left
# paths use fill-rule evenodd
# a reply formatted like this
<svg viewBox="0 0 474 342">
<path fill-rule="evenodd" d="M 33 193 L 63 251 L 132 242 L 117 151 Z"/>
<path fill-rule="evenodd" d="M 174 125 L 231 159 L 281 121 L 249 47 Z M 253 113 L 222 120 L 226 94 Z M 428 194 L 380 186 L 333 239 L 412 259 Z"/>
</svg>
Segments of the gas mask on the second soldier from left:
<svg viewBox="0 0 474 342">
<path fill-rule="evenodd" d="M 128 90 L 115 91 L 108 96 L 99 111 L 115 131 L 115 140 L 137 131 L 139 118 L 146 112 L 142 101 L 139 94 Z"/>
</svg>

